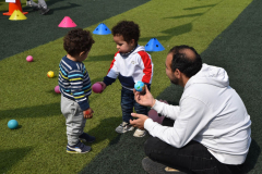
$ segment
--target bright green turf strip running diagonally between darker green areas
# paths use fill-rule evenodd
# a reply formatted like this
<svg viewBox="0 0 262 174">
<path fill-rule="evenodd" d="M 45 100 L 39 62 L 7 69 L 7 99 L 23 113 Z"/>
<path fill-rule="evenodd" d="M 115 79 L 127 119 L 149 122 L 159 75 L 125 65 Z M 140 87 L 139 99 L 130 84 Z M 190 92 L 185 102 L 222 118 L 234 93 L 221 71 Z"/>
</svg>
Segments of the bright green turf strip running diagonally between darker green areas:
<svg viewBox="0 0 262 174">
<path fill-rule="evenodd" d="M 100 22 L 111 28 L 120 20 L 133 20 L 141 28 L 140 45 L 145 45 L 152 37 L 156 37 L 166 48 L 162 52 L 151 52 L 154 63 L 152 94 L 164 99 L 168 97 L 167 91 L 170 89 L 170 83 L 165 75 L 168 50 L 175 45 L 184 44 L 193 46 L 200 53 L 203 52 L 250 2 L 251 0 L 152 0 Z M 94 30 L 97 25 L 98 23 L 91 25 L 87 29 Z M 94 35 L 94 39 L 96 42 L 84 62 L 93 84 L 106 75 L 116 52 L 111 35 Z M 66 52 L 62 49 L 62 38 L 49 41 L 0 61 L 0 157 L 3 157 L 0 158 L 0 173 L 78 173 L 82 169 L 96 169 L 95 173 L 108 173 L 111 169 L 118 171 L 117 165 L 109 163 L 112 157 L 100 158 L 109 160 L 108 165 L 103 166 L 99 165 L 99 160 L 94 159 L 108 146 L 111 146 L 112 150 L 104 152 L 117 156 L 118 147 L 126 145 L 121 138 L 133 138 L 131 134 L 119 137 L 115 133 L 116 126 L 121 122 L 119 82 L 109 86 L 104 94 L 93 94 L 90 98 L 95 115 L 86 122 L 85 132 L 97 138 L 92 145 L 92 151 L 87 154 L 66 153 L 67 135 L 64 117 L 60 112 L 60 95 L 53 92 L 58 84 L 57 76 L 48 78 L 46 75 L 48 71 L 58 74 L 58 64 Z M 14 48 L 10 45 L 7 49 Z M 25 61 L 28 54 L 34 57 L 34 62 Z M 205 61 L 211 60 L 212 58 Z M 179 92 L 175 92 L 174 98 L 179 100 L 181 89 L 175 89 Z M 19 129 L 11 130 L 7 127 L 11 119 L 19 121 Z M 133 156 L 135 150 L 143 150 L 144 140 L 145 138 L 141 141 L 131 139 L 131 144 L 123 147 L 127 150 L 119 149 L 123 156 L 119 161 L 128 165 L 127 173 L 132 169 L 142 173 L 142 159 L 135 162 L 132 160 L 142 157 L 141 153 L 136 158 Z M 134 148 L 129 149 L 129 146 Z M 124 170 L 123 165 L 120 169 Z"/>
</svg>

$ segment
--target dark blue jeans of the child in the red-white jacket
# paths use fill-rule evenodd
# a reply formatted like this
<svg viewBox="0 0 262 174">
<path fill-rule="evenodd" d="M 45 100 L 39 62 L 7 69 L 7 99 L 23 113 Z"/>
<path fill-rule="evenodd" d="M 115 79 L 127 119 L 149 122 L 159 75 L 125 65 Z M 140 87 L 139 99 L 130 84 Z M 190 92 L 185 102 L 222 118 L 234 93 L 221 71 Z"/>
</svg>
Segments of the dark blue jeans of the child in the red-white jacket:
<svg viewBox="0 0 262 174">
<path fill-rule="evenodd" d="M 147 86 L 150 89 L 150 86 Z M 148 109 L 147 107 L 140 105 L 134 100 L 134 94 L 132 90 L 126 89 L 122 87 L 121 90 L 121 108 L 122 108 L 122 121 L 129 123 L 130 120 L 133 120 L 131 113 L 134 111 L 140 114 L 147 115 Z"/>
</svg>

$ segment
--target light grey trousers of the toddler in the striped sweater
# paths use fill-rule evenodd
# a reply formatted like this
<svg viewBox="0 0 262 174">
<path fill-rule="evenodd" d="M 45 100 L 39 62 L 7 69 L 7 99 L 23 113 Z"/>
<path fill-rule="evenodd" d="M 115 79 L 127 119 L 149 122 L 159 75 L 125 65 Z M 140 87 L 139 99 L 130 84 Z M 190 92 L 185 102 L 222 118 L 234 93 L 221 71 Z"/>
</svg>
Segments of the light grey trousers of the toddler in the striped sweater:
<svg viewBox="0 0 262 174">
<path fill-rule="evenodd" d="M 79 142 L 79 136 L 83 133 L 86 120 L 75 101 L 61 97 L 61 111 L 66 117 L 67 135 L 69 146 Z"/>
</svg>

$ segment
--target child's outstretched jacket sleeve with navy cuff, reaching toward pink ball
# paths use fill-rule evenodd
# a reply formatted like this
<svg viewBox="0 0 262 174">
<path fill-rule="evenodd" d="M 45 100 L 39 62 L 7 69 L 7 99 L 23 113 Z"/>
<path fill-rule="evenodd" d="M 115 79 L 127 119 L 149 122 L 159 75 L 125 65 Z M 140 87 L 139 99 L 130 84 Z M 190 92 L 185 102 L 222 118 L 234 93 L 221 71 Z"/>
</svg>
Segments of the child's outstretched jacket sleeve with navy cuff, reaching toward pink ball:
<svg viewBox="0 0 262 174">
<path fill-rule="evenodd" d="M 117 55 L 117 53 L 116 53 Z M 118 75 L 119 75 L 119 71 L 118 71 L 118 65 L 117 65 L 117 61 L 116 61 L 116 55 L 114 58 L 114 60 L 111 61 L 110 67 L 108 70 L 107 76 L 104 77 L 104 83 L 106 84 L 106 86 L 111 85 L 112 83 L 116 82 Z"/>
</svg>

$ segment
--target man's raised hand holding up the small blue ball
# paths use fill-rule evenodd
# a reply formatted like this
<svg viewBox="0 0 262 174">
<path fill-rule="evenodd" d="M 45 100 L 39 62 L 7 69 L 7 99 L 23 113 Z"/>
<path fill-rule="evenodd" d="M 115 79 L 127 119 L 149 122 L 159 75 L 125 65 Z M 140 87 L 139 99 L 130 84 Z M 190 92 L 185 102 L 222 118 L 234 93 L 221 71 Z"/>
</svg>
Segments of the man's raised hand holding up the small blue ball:
<svg viewBox="0 0 262 174">
<path fill-rule="evenodd" d="M 155 104 L 155 99 L 151 95 L 146 85 L 145 85 L 145 95 L 136 91 L 135 89 L 133 89 L 133 94 L 134 94 L 134 100 L 139 104 L 145 105 L 145 107 L 151 107 L 151 108 Z"/>
</svg>

